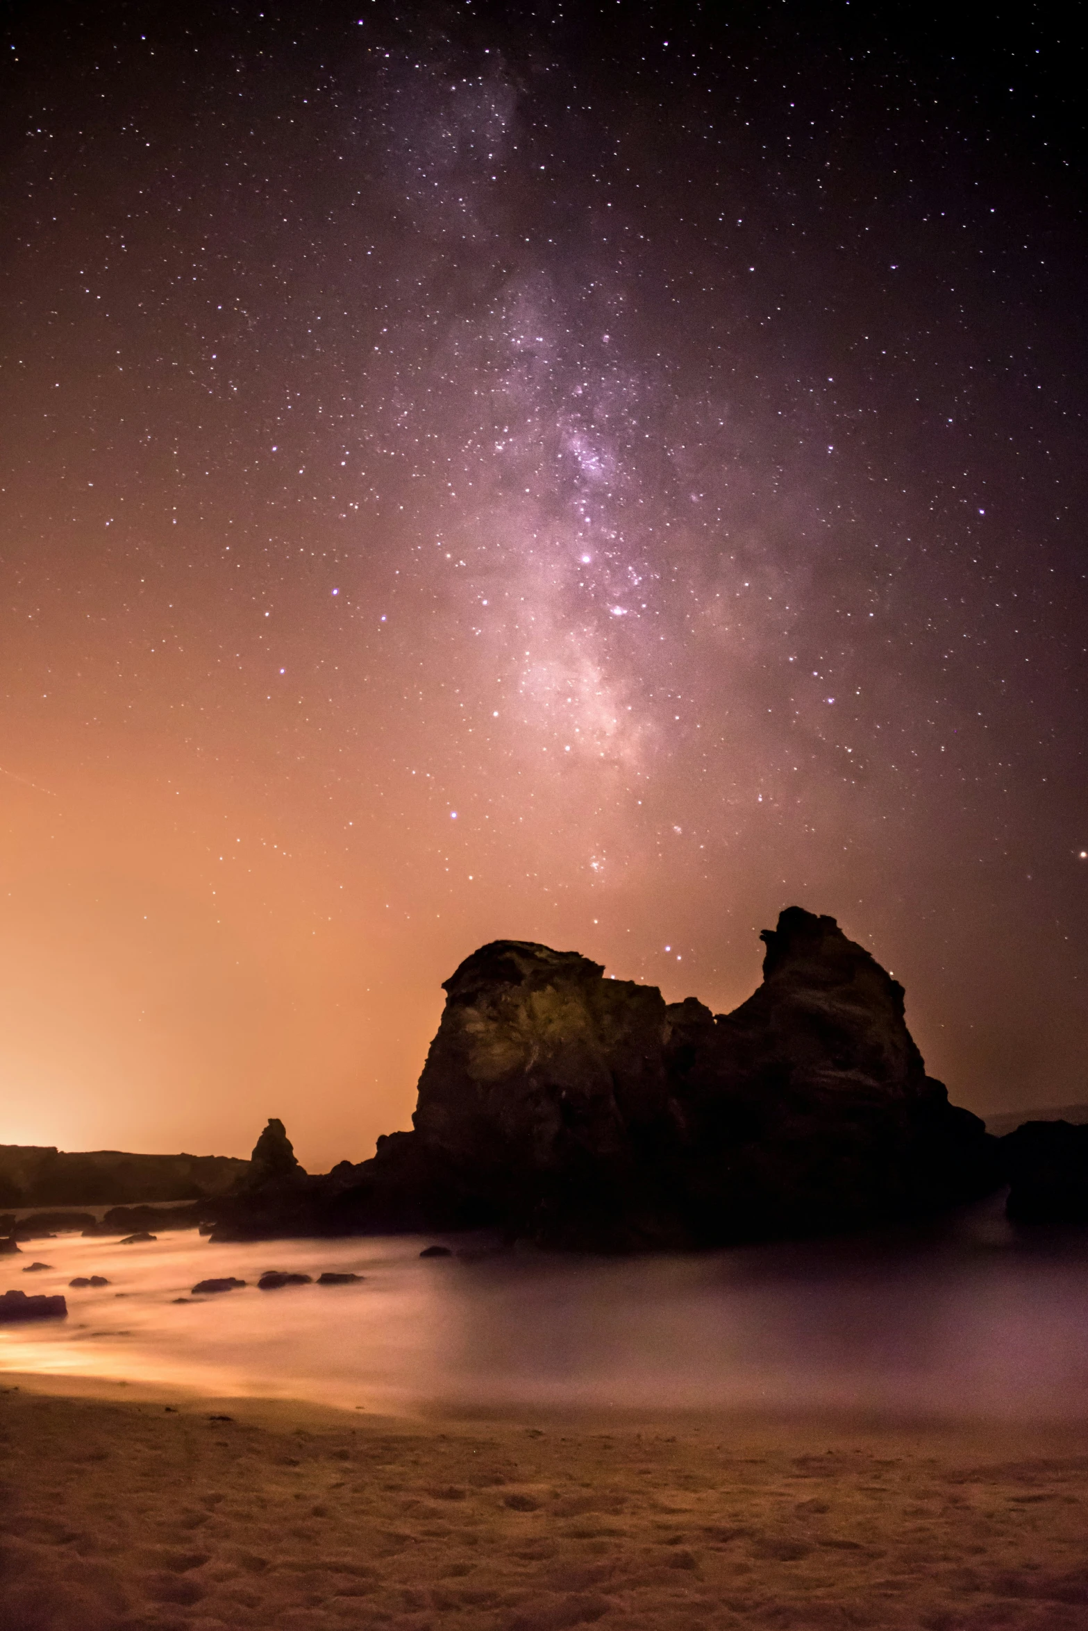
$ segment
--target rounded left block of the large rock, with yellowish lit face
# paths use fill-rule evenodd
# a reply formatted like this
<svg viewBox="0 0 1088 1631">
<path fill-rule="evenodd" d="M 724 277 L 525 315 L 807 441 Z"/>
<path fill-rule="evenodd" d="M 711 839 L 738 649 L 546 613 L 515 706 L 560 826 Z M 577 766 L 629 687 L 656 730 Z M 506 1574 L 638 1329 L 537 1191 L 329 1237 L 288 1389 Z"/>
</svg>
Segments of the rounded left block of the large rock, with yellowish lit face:
<svg viewBox="0 0 1088 1631">
<path fill-rule="evenodd" d="M 445 992 L 413 1116 L 432 1163 L 504 1220 L 582 1196 L 607 1212 L 602 1184 L 630 1209 L 680 1125 L 661 992 L 522 941 L 473 953 Z"/>
</svg>

